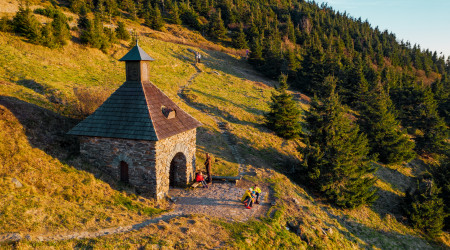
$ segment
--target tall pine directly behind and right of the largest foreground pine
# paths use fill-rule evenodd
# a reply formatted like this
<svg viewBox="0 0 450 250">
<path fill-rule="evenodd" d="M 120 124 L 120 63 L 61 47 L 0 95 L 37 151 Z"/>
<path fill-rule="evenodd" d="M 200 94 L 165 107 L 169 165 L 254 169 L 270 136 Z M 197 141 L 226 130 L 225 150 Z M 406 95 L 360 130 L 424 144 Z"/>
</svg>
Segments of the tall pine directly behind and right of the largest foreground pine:
<svg viewBox="0 0 450 250">
<path fill-rule="evenodd" d="M 370 154 L 378 155 L 378 159 L 386 164 L 401 163 L 414 157 L 414 142 L 400 129 L 392 110 L 389 96 L 378 84 L 365 100 L 358 120 L 369 139 Z"/>
</svg>

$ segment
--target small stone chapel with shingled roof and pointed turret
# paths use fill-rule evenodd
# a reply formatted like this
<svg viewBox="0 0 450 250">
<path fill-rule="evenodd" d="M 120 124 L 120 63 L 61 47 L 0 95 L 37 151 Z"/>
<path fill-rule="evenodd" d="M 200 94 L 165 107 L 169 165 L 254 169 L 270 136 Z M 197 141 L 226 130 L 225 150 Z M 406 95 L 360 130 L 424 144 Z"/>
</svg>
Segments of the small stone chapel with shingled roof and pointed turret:
<svg viewBox="0 0 450 250">
<path fill-rule="evenodd" d="M 68 134 L 79 136 L 84 159 L 159 200 L 194 179 L 202 124 L 149 81 L 154 59 L 137 42 L 119 61 L 126 81 Z"/>
</svg>

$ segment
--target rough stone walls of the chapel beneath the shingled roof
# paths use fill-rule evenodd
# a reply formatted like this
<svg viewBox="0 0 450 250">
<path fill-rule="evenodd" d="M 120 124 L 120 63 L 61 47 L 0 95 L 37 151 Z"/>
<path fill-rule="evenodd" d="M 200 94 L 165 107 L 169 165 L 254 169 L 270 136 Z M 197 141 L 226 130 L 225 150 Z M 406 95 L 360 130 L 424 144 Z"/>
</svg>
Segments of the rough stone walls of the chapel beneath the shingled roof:
<svg viewBox="0 0 450 250">
<path fill-rule="evenodd" d="M 186 158 L 180 164 L 179 155 L 174 176 L 178 186 L 186 186 L 194 179 L 196 129 L 160 141 L 128 140 L 118 138 L 80 138 L 80 153 L 92 165 L 120 180 L 120 162 L 128 164 L 129 183 L 139 192 L 156 199 L 164 198 L 169 191 L 170 166 L 177 153 Z M 184 161 L 182 161 L 184 162 Z"/>
</svg>

